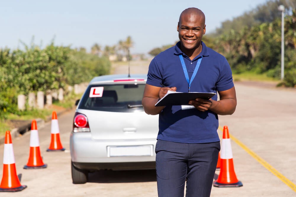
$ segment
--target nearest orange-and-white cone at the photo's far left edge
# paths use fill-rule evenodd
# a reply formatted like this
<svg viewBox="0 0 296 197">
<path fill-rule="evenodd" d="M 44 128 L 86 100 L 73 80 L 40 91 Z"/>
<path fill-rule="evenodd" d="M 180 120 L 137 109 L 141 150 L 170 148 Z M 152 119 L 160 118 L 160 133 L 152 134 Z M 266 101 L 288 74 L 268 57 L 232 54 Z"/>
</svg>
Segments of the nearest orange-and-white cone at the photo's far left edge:
<svg viewBox="0 0 296 197">
<path fill-rule="evenodd" d="M 27 185 L 21 185 L 15 168 L 15 156 L 13 153 L 10 131 L 5 133 L 3 154 L 3 176 L 0 184 L 0 192 L 22 191 Z"/>
</svg>

